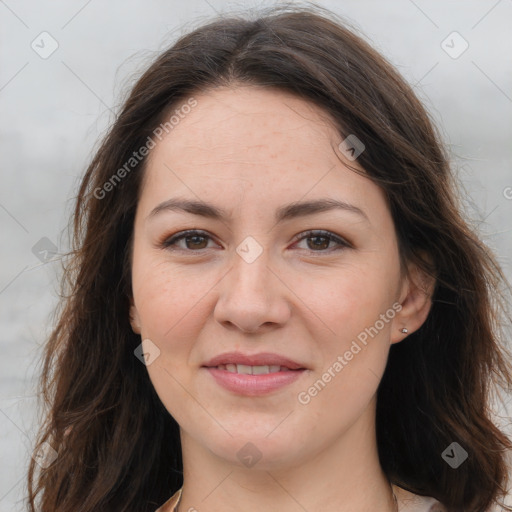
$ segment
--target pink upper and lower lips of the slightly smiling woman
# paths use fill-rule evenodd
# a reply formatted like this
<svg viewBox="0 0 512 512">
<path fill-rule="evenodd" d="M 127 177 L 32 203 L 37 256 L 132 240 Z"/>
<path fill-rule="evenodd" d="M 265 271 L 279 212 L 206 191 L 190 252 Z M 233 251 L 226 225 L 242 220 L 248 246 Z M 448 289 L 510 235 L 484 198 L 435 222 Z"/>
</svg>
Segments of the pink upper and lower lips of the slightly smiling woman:
<svg viewBox="0 0 512 512">
<path fill-rule="evenodd" d="M 226 365 L 231 369 L 226 369 Z M 244 367 L 268 366 L 271 373 L 251 375 L 247 373 L 233 373 L 235 365 Z M 219 368 L 221 366 L 221 368 Z M 270 368 L 273 367 L 273 368 Z M 279 368 L 278 368 L 279 367 Z M 258 396 L 270 393 L 291 384 L 306 371 L 299 363 L 278 354 L 260 353 L 245 355 L 239 352 L 228 352 L 214 357 L 203 365 L 217 384 L 223 388 L 246 396 Z M 247 368 L 243 368 L 247 371 Z"/>
</svg>

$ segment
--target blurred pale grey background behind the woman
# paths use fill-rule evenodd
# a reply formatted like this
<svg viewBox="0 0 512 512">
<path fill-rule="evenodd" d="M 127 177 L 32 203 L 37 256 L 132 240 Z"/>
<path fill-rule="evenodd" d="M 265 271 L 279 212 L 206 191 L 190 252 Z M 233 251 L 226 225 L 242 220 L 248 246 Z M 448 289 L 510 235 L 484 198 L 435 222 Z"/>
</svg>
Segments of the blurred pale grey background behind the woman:
<svg viewBox="0 0 512 512">
<path fill-rule="evenodd" d="M 216 14 L 275 3 L 0 0 L 1 512 L 25 510 L 59 255 L 98 140 L 159 51 Z M 472 225 L 512 280 L 512 0 L 315 3 L 413 85 L 450 150 Z M 512 432 L 510 399 L 495 412 Z"/>
</svg>

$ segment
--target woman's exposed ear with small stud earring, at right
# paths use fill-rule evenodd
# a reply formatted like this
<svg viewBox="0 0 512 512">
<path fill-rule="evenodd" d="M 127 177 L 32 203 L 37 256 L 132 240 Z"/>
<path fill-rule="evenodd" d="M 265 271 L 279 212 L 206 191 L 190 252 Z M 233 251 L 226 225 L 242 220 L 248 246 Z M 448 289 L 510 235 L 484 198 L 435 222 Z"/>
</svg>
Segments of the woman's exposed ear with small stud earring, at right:
<svg viewBox="0 0 512 512">
<path fill-rule="evenodd" d="M 434 276 L 427 274 L 416 264 L 409 264 L 400 290 L 399 302 L 402 309 L 393 319 L 391 343 L 399 343 L 423 325 L 432 307 L 435 285 Z M 407 333 L 401 331 L 404 327 Z"/>
</svg>

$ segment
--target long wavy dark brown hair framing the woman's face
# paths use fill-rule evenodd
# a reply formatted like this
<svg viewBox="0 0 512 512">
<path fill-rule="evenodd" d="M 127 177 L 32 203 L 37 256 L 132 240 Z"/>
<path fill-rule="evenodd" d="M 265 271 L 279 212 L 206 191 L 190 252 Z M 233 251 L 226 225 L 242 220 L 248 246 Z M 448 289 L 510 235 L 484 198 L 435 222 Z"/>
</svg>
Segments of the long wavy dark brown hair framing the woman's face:
<svg viewBox="0 0 512 512">
<path fill-rule="evenodd" d="M 463 218 L 448 155 L 411 87 L 334 13 L 290 5 L 181 37 L 135 84 L 93 157 L 41 374 L 47 414 L 36 451 L 51 446 L 57 458 L 31 461 L 30 510 L 153 512 L 182 485 L 178 425 L 134 356 L 130 249 L 147 158 L 126 162 L 172 108 L 238 83 L 298 95 L 365 144 L 358 162 L 386 194 L 401 259 L 436 277 L 426 322 L 392 345 L 378 389 L 382 468 L 451 512 L 488 510 L 509 482 L 511 440 L 490 416 L 493 390 L 512 387 L 500 339 L 509 285 Z M 468 454 L 457 469 L 442 457 L 454 442 Z"/>
</svg>

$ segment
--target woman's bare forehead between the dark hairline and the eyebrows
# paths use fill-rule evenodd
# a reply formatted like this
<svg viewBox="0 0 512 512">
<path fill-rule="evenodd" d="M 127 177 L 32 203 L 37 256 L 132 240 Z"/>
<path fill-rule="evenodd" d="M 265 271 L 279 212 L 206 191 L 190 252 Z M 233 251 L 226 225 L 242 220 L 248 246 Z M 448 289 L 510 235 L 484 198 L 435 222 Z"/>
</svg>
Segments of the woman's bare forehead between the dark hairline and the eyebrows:
<svg viewBox="0 0 512 512">
<path fill-rule="evenodd" d="M 266 205 L 322 196 L 385 208 L 380 188 L 346 167 L 338 149 L 342 136 L 310 102 L 255 86 L 216 88 L 193 98 L 194 108 L 151 150 L 141 202 L 150 196 L 154 206 L 170 195 L 187 195 L 219 198 L 229 209 L 242 205 L 242 198 L 249 208 L 251 201 Z M 169 115 L 176 109 L 180 104 Z"/>
</svg>

